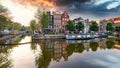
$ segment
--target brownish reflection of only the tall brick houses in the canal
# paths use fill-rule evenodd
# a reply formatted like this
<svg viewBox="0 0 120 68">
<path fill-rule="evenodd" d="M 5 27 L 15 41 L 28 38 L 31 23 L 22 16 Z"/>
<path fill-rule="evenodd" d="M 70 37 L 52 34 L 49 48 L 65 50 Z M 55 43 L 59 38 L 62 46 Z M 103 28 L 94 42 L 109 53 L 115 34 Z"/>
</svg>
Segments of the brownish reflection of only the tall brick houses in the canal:
<svg viewBox="0 0 120 68">
<path fill-rule="evenodd" d="M 55 61 L 60 61 L 60 59 L 63 57 L 65 61 L 68 60 L 66 47 L 67 44 L 65 41 L 50 41 L 47 40 L 44 45 L 45 49 L 48 50 L 51 54 L 51 58 Z"/>
</svg>

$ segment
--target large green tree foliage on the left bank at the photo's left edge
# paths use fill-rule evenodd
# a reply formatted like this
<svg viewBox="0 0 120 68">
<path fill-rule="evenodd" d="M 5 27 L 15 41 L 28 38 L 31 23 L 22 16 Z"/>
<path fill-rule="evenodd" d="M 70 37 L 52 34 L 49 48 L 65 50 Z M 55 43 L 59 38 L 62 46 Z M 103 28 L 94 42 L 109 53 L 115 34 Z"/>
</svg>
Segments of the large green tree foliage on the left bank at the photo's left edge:
<svg viewBox="0 0 120 68">
<path fill-rule="evenodd" d="M 15 23 L 9 19 L 8 9 L 0 5 L 0 30 L 25 30 L 25 27 L 19 23 Z"/>
</svg>

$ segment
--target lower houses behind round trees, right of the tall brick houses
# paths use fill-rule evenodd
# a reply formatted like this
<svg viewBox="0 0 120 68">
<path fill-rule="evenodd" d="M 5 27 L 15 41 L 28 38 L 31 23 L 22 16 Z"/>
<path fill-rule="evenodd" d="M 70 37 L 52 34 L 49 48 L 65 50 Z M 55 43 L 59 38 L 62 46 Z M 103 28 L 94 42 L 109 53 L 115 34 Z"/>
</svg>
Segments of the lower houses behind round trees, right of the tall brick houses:
<svg viewBox="0 0 120 68">
<path fill-rule="evenodd" d="M 89 27 L 91 25 L 91 21 L 89 19 L 83 19 L 81 17 L 73 20 L 75 25 L 79 21 L 81 21 L 85 26 L 84 30 L 83 30 L 84 33 L 89 33 Z M 117 27 L 120 25 L 120 17 L 104 19 L 104 20 L 100 20 L 99 22 L 97 22 L 99 25 L 99 32 L 106 32 L 107 31 L 106 30 L 107 22 L 111 22 L 113 24 L 113 27 L 115 27 L 115 29 L 117 29 Z"/>
</svg>

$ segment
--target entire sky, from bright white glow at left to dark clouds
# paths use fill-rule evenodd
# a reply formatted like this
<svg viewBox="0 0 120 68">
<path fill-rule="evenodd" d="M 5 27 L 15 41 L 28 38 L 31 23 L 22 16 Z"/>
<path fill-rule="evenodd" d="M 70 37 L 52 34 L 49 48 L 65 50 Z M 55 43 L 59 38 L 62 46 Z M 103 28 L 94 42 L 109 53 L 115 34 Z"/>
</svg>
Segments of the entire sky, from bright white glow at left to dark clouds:
<svg viewBox="0 0 120 68">
<path fill-rule="evenodd" d="M 10 10 L 13 21 L 25 26 L 34 19 L 37 7 L 50 11 L 67 11 L 71 19 L 120 17 L 120 0 L 0 0 L 0 4 Z"/>
</svg>

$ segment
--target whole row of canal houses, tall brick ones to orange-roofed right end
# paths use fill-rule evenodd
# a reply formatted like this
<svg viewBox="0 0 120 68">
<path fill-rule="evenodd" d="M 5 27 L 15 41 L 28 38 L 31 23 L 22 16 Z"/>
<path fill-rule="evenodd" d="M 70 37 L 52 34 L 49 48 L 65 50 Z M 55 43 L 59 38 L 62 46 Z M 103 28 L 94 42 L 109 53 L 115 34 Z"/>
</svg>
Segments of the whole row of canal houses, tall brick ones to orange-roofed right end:
<svg viewBox="0 0 120 68">
<path fill-rule="evenodd" d="M 48 12 L 50 23 L 47 28 L 45 28 L 46 32 L 54 32 L 54 33 L 64 33 L 66 31 L 65 25 L 67 24 L 67 21 L 70 20 L 70 16 L 68 12 Z M 73 23 L 76 25 L 79 21 L 81 21 L 84 24 L 84 33 L 89 33 L 89 27 L 91 25 L 91 21 L 89 19 L 83 19 L 81 17 L 75 18 L 72 20 Z M 120 17 L 117 18 L 111 18 L 108 20 L 100 20 L 98 22 L 99 24 L 99 32 L 106 32 L 106 22 L 112 22 L 112 24 L 116 27 L 120 23 Z"/>
</svg>

